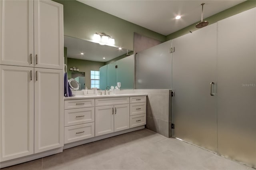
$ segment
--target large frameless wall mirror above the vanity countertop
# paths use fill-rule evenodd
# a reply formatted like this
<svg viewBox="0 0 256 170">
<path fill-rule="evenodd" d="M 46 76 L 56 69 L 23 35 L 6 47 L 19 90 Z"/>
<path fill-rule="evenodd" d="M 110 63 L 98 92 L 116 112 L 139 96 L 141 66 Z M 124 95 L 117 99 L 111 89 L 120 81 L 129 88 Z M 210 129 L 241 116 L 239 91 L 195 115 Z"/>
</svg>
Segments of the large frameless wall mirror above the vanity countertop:
<svg viewBox="0 0 256 170">
<path fill-rule="evenodd" d="M 64 36 L 68 79 L 80 89 L 109 89 L 121 82 L 121 89 L 134 89 L 133 51 Z"/>
</svg>

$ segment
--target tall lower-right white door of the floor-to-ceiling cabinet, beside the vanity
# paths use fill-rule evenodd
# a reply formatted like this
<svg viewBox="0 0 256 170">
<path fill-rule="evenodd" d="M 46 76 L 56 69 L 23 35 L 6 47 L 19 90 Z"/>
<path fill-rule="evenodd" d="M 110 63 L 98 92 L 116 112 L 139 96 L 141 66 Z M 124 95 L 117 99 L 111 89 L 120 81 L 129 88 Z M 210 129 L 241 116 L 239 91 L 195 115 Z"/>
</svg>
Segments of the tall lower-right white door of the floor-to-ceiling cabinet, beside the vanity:
<svg viewBox="0 0 256 170">
<path fill-rule="evenodd" d="M 35 68 L 34 152 L 63 146 L 63 71 Z"/>
</svg>

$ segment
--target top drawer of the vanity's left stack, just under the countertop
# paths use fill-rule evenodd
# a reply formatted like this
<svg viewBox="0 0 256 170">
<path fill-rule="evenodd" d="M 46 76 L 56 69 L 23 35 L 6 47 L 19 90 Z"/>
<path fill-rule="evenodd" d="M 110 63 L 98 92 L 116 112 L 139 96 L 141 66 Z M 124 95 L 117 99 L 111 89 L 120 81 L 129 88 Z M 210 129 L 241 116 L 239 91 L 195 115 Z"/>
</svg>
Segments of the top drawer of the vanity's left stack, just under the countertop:
<svg viewBox="0 0 256 170">
<path fill-rule="evenodd" d="M 94 99 L 74 99 L 64 101 L 64 109 L 78 109 L 85 107 L 94 107 Z"/>
</svg>

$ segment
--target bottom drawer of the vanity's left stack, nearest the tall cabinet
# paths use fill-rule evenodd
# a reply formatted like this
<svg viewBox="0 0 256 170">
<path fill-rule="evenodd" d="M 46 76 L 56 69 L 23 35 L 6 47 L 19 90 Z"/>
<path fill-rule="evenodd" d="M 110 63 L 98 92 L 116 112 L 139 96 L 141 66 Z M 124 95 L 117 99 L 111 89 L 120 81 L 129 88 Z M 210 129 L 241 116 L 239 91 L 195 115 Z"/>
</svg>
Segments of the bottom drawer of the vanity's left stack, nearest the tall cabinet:
<svg viewBox="0 0 256 170">
<path fill-rule="evenodd" d="M 64 144 L 94 137 L 94 123 L 64 127 Z"/>
</svg>

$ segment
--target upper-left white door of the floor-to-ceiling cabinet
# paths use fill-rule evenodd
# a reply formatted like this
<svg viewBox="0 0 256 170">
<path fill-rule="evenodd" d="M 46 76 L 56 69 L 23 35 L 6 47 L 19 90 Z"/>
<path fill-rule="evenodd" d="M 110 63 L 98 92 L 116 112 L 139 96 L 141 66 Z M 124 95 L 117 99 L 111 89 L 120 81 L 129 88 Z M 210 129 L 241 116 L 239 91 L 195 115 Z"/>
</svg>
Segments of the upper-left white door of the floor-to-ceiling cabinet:
<svg viewBox="0 0 256 170">
<path fill-rule="evenodd" d="M 32 0 L 0 1 L 0 64 L 34 67 Z"/>
</svg>

